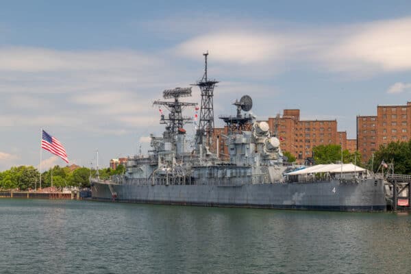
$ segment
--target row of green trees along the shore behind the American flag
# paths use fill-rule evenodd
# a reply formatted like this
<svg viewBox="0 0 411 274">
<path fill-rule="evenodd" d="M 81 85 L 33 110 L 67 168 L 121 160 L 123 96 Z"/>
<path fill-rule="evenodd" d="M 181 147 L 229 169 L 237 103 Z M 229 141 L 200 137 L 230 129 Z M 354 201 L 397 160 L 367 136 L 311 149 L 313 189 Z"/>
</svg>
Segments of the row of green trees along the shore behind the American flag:
<svg viewBox="0 0 411 274">
<path fill-rule="evenodd" d="M 99 176 L 108 179 L 112 175 L 124 173 L 123 165 L 116 169 L 99 169 Z M 90 176 L 95 176 L 97 170 L 79 167 L 70 169 L 69 166 L 53 166 L 52 169 L 41 174 L 42 188 L 53 186 L 62 188 L 66 186 L 79 186 L 86 188 L 90 186 Z M 34 166 L 13 166 L 11 169 L 0 172 L 1 190 L 30 190 L 40 187 L 40 172 Z"/>
</svg>

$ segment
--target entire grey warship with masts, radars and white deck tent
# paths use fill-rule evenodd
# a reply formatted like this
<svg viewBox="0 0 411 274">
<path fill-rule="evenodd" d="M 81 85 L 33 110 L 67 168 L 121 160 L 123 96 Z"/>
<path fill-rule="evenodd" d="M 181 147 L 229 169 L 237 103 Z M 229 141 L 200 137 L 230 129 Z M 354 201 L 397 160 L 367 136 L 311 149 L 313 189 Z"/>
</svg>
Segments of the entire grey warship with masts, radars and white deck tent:
<svg viewBox="0 0 411 274">
<path fill-rule="evenodd" d="M 250 112 L 248 95 L 233 103 L 236 114 L 219 116 L 227 134 L 215 136 L 213 93 L 219 82 L 208 79 L 208 53 L 203 55 L 203 77 L 193 84 L 200 89 L 201 106 L 182 101 L 191 96 L 192 87 L 164 90 L 164 100 L 153 102 L 169 110 L 168 115 L 160 110 L 164 133 L 161 137 L 151 134 L 147 155 L 128 157 L 123 175 L 91 178 L 92 199 L 238 208 L 386 210 L 383 178 L 366 169 L 353 164 L 305 169 L 285 164 L 279 139 L 268 123 Z M 184 116 L 184 108 L 199 109 L 199 123 L 197 113 Z M 197 126 L 192 146 L 184 129 L 188 123 Z M 227 145 L 227 160 L 219 154 L 222 143 Z"/>
</svg>

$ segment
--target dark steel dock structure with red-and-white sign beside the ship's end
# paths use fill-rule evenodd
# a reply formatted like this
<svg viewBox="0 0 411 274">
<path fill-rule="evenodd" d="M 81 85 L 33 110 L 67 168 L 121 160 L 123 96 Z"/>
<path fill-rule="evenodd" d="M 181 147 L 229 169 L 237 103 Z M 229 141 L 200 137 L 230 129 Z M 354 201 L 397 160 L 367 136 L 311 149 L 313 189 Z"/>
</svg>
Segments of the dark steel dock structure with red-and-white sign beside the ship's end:
<svg viewBox="0 0 411 274">
<path fill-rule="evenodd" d="M 392 210 L 411 210 L 411 175 L 386 174 Z"/>
</svg>

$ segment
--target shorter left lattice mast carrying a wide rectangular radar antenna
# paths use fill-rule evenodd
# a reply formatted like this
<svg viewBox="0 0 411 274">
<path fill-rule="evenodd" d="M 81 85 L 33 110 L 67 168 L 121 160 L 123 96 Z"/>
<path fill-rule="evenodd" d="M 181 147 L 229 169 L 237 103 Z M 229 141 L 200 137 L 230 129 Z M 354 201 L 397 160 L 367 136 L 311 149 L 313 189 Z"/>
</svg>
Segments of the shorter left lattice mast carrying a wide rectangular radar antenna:
<svg viewBox="0 0 411 274">
<path fill-rule="evenodd" d="M 179 101 L 180 97 L 190 97 L 191 88 L 174 88 L 172 90 L 164 90 L 164 99 L 174 99 L 173 101 L 154 101 L 153 105 L 164 105 L 169 110 L 169 115 L 161 114 L 160 123 L 166 124 L 166 131 L 170 136 L 174 137 L 178 134 L 179 129 L 183 129 L 184 124 L 192 123 L 192 118 L 183 116 L 182 110 L 187 106 L 195 106 L 197 103 L 187 103 Z"/>
</svg>

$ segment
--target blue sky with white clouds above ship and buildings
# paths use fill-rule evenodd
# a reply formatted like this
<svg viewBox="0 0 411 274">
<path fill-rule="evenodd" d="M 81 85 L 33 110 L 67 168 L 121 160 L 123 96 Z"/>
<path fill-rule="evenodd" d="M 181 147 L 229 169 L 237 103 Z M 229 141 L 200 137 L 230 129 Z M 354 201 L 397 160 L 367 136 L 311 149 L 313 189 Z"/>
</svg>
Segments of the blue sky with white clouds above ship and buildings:
<svg viewBox="0 0 411 274">
<path fill-rule="evenodd" d="M 41 128 L 70 164 L 144 153 L 153 101 L 201 79 L 206 51 L 214 116 L 249 95 L 258 119 L 299 108 L 356 138 L 357 115 L 411 99 L 411 1 L 1 1 L 0 171 L 40 168 Z"/>
</svg>

